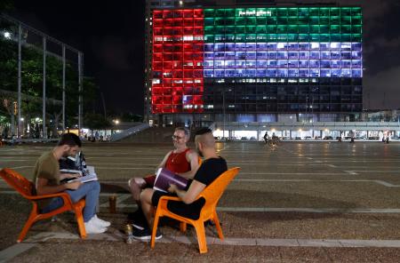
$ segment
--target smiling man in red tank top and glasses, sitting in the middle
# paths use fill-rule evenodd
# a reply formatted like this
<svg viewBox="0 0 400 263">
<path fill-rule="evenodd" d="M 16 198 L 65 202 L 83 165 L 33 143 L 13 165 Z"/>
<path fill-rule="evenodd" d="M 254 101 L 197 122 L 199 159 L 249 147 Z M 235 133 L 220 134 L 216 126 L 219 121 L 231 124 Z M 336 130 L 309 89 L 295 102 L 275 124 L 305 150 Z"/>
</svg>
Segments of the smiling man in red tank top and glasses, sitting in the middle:
<svg viewBox="0 0 400 263">
<path fill-rule="evenodd" d="M 169 151 L 164 156 L 163 161 L 157 166 L 156 171 L 159 168 L 166 168 L 184 178 L 193 179 L 198 169 L 198 155 L 195 151 L 188 148 L 187 143 L 189 139 L 190 132 L 188 129 L 184 127 L 176 128 L 172 135 L 175 149 Z M 147 187 L 154 187 L 155 180 L 156 175 L 151 174 L 144 178 L 135 177 L 128 181 L 132 197 L 138 205 L 140 205 L 141 190 Z"/>
</svg>

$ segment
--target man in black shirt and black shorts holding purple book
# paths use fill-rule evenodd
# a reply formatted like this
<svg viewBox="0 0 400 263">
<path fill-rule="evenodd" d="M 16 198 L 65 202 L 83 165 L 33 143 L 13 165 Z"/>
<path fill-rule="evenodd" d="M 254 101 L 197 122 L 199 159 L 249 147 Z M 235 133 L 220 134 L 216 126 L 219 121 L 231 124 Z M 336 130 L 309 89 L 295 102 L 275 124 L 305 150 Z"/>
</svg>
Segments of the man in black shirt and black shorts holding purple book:
<svg viewBox="0 0 400 263">
<path fill-rule="evenodd" d="M 198 219 L 200 211 L 204 206 L 204 198 L 196 200 L 197 196 L 210 185 L 214 179 L 217 179 L 221 173 L 228 170 L 225 159 L 217 155 L 215 151 L 215 139 L 212 131 L 208 128 L 196 132 L 196 150 L 204 157 L 204 162 L 196 171 L 193 181 L 187 189 L 181 190 L 175 185 L 168 188 L 169 193 L 156 191 L 152 188 L 144 189 L 140 194 L 141 209 L 143 210 L 148 226 L 140 229 L 133 229 L 133 237 L 140 240 L 149 240 L 151 238 L 151 228 L 153 227 L 153 215 L 158 200 L 163 195 L 178 195 L 182 201 L 168 202 L 168 209 L 178 215 L 190 219 Z M 161 234 L 157 230 L 156 238 Z"/>
</svg>

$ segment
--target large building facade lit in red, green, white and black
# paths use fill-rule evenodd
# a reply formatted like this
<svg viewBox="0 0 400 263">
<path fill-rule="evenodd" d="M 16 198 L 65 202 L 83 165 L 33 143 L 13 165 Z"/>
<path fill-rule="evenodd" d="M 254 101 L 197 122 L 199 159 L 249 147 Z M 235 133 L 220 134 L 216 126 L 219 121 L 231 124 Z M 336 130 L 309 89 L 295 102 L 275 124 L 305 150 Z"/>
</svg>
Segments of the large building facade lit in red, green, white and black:
<svg viewBox="0 0 400 263">
<path fill-rule="evenodd" d="M 359 121 L 359 6 L 147 1 L 145 118 Z"/>
</svg>

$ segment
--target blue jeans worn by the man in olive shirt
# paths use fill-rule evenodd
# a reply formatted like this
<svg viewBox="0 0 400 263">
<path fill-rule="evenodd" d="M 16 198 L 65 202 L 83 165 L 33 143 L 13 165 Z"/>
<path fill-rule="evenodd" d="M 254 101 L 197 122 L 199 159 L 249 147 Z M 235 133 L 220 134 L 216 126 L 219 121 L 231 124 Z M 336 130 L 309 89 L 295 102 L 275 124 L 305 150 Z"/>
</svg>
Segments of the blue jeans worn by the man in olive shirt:
<svg viewBox="0 0 400 263">
<path fill-rule="evenodd" d="M 96 205 L 100 195 L 100 183 L 99 181 L 91 181 L 84 183 L 76 190 L 65 191 L 72 200 L 72 203 L 76 203 L 82 198 L 85 200 L 84 205 L 84 222 L 88 222 L 96 213 Z M 53 211 L 64 204 L 61 197 L 52 198 L 52 201 L 44 207 L 43 212 Z"/>
</svg>

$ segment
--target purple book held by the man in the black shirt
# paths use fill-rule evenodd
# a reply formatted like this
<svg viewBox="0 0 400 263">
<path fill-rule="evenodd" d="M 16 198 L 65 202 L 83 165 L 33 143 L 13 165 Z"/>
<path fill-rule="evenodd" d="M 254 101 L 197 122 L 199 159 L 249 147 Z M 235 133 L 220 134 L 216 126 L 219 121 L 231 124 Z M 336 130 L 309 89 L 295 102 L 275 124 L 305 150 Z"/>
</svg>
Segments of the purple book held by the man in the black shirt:
<svg viewBox="0 0 400 263">
<path fill-rule="evenodd" d="M 174 184 L 183 190 L 188 185 L 188 179 L 165 168 L 158 169 L 153 189 L 167 193 L 170 184 Z"/>
</svg>

